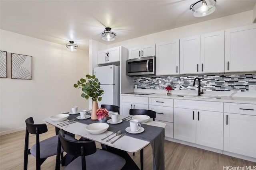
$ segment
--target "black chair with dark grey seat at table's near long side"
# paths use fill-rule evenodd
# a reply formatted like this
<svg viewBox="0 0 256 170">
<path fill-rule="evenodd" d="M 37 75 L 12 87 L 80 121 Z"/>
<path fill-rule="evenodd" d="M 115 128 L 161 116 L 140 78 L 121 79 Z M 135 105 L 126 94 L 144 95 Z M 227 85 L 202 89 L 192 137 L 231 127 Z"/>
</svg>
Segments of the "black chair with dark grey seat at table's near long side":
<svg viewBox="0 0 256 170">
<path fill-rule="evenodd" d="M 64 130 L 59 131 L 56 170 L 60 169 L 60 149 L 76 156 L 65 170 L 120 170 L 124 158 L 102 149 L 96 149 L 94 141 L 74 141 L 65 137 Z"/>
</svg>

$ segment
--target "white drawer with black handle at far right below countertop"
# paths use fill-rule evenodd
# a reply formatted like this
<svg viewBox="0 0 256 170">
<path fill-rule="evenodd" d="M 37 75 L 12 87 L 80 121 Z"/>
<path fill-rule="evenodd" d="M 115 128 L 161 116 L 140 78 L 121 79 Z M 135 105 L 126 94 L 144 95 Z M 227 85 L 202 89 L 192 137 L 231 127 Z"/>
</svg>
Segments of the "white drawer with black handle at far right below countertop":
<svg viewBox="0 0 256 170">
<path fill-rule="evenodd" d="M 256 116 L 256 104 L 224 103 L 224 112 Z"/>
</svg>

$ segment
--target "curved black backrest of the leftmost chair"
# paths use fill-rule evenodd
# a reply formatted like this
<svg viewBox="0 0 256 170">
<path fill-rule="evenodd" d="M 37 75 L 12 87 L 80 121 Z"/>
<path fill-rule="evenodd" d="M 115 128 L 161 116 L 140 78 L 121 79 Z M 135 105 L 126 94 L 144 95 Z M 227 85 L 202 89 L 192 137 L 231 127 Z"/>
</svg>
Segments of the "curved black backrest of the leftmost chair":
<svg viewBox="0 0 256 170">
<path fill-rule="evenodd" d="M 41 133 L 46 133 L 48 131 L 47 126 L 45 123 L 42 124 L 34 124 L 33 117 L 29 117 L 28 119 L 25 120 L 26 127 L 29 133 L 31 134 L 41 134 Z"/>
</svg>

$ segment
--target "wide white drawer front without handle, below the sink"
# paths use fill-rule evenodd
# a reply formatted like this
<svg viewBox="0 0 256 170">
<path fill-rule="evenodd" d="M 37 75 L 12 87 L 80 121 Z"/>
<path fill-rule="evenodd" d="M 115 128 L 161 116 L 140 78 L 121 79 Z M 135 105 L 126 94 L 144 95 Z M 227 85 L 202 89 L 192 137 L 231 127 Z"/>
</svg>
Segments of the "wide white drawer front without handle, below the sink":
<svg viewBox="0 0 256 170">
<path fill-rule="evenodd" d="M 222 102 L 205 102 L 196 100 L 174 100 L 174 107 L 223 112 Z"/>
</svg>

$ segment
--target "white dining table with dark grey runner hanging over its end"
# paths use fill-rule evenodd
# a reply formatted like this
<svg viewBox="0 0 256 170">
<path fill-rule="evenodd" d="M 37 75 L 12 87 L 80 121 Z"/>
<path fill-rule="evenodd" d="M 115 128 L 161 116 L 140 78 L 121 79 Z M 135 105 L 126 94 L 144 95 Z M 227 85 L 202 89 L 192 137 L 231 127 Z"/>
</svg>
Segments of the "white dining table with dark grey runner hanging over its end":
<svg viewBox="0 0 256 170">
<path fill-rule="evenodd" d="M 90 115 L 90 113 L 87 113 L 87 114 Z M 118 117 L 120 121 L 122 120 L 121 122 L 118 121 L 120 123 L 112 124 L 112 123 L 105 122 L 109 124 L 107 131 L 100 134 L 91 134 L 86 130 L 86 126 L 92 123 L 98 123 L 98 120 L 92 120 L 90 118 L 78 119 L 79 115 L 80 113 L 70 114 L 68 119 L 70 120 L 74 119 L 74 121 L 67 125 L 63 125 L 64 123 L 62 122 L 52 121 L 50 117 L 46 117 L 45 119 L 43 119 L 43 121 L 55 126 L 56 129 L 63 129 L 64 131 L 70 134 L 74 134 L 74 136 L 76 137 L 79 136 L 85 139 L 89 139 L 89 140 L 101 143 L 103 146 L 105 145 L 106 148 L 108 148 L 108 151 L 114 152 L 126 159 L 126 166 L 129 166 L 129 167 L 123 168 L 123 169 L 132 168 L 132 169 L 143 170 L 144 168 L 143 149 L 148 145 L 151 145 L 152 155 L 153 155 L 153 160 L 152 160 L 153 169 L 164 170 L 164 128 L 166 126 L 165 123 L 153 121 L 152 119 L 149 119 L 144 123 L 140 123 L 144 131 L 142 131 L 141 133 L 129 133 L 126 131 L 127 130 L 126 128 L 130 126 L 129 120 L 131 119 L 132 115 L 120 114 Z M 68 121 L 68 120 L 65 120 L 65 121 Z M 117 141 L 115 141 L 114 143 L 112 143 L 119 136 L 114 137 L 114 135 L 110 135 L 110 134 L 118 130 L 122 132 L 121 134 L 125 134 L 125 135 L 120 139 L 118 139 Z M 107 137 L 108 135 L 110 136 Z M 114 138 L 110 139 L 112 137 Z M 102 140 L 103 138 L 106 138 L 106 139 Z M 108 141 L 108 139 L 110 140 Z M 135 162 L 127 153 L 127 152 L 138 152 L 138 151 L 140 151 L 140 168 L 138 168 L 138 166 L 135 164 Z"/>
</svg>

